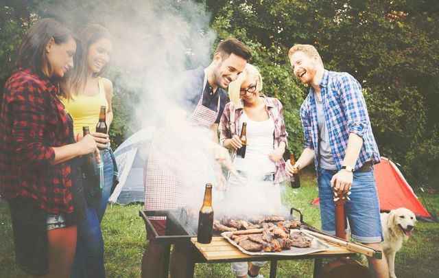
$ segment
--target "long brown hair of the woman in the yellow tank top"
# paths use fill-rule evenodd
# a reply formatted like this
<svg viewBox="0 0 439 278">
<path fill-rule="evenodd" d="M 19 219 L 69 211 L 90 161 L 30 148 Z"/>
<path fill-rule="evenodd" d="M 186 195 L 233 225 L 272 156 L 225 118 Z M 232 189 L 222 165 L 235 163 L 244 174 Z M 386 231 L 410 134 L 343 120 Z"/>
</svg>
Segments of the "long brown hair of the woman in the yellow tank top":
<svg viewBox="0 0 439 278">
<path fill-rule="evenodd" d="M 72 95 L 78 95 L 83 91 L 87 80 L 88 71 L 88 49 L 93 43 L 102 38 L 112 40 L 112 35 L 108 29 L 96 23 L 88 23 L 80 28 L 77 33 L 80 39 L 80 47 L 78 47 L 79 55 L 76 56 L 75 67 L 67 78 L 67 90 L 62 92 L 62 96 L 71 99 Z M 101 71 L 95 73 L 94 76 L 102 76 L 108 71 L 108 64 L 102 67 Z"/>
</svg>

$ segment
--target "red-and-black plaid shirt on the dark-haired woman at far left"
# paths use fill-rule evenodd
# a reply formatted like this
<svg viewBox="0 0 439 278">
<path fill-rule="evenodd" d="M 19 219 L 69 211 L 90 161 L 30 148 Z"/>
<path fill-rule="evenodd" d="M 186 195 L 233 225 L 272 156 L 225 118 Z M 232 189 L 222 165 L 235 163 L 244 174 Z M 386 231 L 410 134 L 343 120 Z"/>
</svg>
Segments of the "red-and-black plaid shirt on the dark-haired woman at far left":
<svg viewBox="0 0 439 278">
<path fill-rule="evenodd" d="M 29 69 L 5 84 L 0 120 L 0 194 L 30 198 L 51 213 L 73 212 L 71 167 L 51 165 L 54 148 L 67 145 L 68 115 L 50 80 Z"/>
</svg>

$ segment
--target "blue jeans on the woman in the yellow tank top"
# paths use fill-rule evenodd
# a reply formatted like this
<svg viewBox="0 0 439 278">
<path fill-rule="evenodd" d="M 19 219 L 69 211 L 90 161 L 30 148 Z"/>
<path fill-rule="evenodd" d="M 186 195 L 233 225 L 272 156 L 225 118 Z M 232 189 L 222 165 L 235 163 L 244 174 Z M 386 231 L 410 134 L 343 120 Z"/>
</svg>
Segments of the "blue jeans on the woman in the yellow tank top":
<svg viewBox="0 0 439 278">
<path fill-rule="evenodd" d="M 86 204 L 86 220 L 78 224 L 78 242 L 76 244 L 75 260 L 70 276 L 75 277 L 105 277 L 104 268 L 104 239 L 100 223 L 104 217 L 112 186 L 113 165 L 108 150 L 101 150 L 104 163 L 104 188 L 102 200 L 98 207 L 88 207 Z"/>
</svg>

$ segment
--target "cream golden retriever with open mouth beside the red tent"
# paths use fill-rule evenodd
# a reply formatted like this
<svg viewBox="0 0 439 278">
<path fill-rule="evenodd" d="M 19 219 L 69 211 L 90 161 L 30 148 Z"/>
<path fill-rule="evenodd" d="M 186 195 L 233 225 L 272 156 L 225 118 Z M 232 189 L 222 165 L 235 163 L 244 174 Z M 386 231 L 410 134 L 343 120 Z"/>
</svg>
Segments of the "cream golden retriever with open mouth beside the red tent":
<svg viewBox="0 0 439 278">
<path fill-rule="evenodd" d="M 400 207 L 392 209 L 390 213 L 381 213 L 381 226 L 383 227 L 384 241 L 382 242 L 383 254 L 387 259 L 390 278 L 395 275 L 395 255 L 401 249 L 403 242 L 412 235 L 416 216 L 410 209 Z"/>
</svg>

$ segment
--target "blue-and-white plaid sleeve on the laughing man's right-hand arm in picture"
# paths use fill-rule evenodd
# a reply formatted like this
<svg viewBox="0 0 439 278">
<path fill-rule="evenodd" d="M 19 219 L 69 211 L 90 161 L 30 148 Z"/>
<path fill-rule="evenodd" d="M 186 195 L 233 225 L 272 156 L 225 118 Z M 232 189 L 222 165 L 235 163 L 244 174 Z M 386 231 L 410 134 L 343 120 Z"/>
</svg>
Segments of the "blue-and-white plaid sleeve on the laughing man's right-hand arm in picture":
<svg viewBox="0 0 439 278">
<path fill-rule="evenodd" d="M 337 85 L 348 121 L 348 132 L 364 137 L 364 132 L 369 125 L 369 116 L 361 85 L 348 73 L 338 79 Z"/>
</svg>

